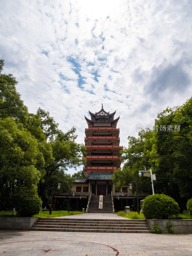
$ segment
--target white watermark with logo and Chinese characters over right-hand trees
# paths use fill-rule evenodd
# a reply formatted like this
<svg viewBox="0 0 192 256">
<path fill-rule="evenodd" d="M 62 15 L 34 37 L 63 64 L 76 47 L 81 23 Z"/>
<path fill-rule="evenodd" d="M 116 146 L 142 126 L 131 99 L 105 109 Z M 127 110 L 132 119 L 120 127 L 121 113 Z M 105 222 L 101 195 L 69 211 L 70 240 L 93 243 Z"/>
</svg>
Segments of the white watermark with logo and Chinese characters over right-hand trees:
<svg viewBox="0 0 192 256">
<path fill-rule="evenodd" d="M 160 131 L 160 132 L 176 132 L 176 131 L 180 131 L 180 125 L 160 125 L 160 126 L 153 126 L 150 124 L 145 125 L 145 129 L 144 126 L 142 124 L 137 124 L 136 125 L 136 131 L 140 132 L 141 130 L 150 130 L 150 131 Z"/>
</svg>

